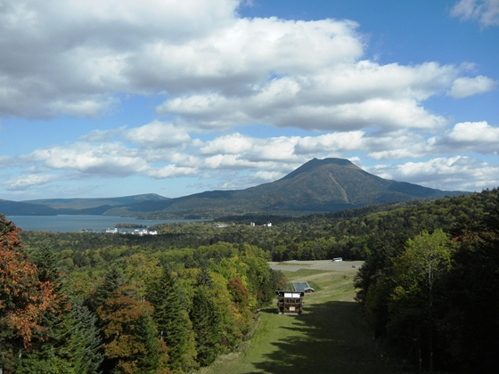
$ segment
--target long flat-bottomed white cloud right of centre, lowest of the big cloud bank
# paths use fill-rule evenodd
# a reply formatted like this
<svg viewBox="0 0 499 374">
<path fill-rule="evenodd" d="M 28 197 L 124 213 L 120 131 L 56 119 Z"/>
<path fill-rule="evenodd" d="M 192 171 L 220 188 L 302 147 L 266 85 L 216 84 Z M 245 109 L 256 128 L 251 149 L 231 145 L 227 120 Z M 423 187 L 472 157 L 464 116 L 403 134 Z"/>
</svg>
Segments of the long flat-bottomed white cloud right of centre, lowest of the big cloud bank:
<svg viewBox="0 0 499 374">
<path fill-rule="evenodd" d="M 408 68 L 359 61 L 318 71 L 306 77 L 274 77 L 244 93 L 184 95 L 169 99 L 158 110 L 217 129 L 254 123 L 329 131 L 438 129 L 446 125 L 446 118 L 429 113 L 420 101 L 442 91 L 457 76 L 454 67 L 436 63 Z"/>
</svg>

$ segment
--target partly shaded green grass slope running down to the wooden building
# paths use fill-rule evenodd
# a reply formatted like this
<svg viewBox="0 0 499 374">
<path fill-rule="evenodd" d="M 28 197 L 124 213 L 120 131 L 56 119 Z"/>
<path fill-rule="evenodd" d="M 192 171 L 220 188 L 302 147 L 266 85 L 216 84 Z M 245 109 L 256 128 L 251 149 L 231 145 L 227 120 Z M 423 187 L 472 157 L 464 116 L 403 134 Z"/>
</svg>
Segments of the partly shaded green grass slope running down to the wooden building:
<svg viewBox="0 0 499 374">
<path fill-rule="evenodd" d="M 203 374 L 389 374 L 354 301 L 348 272 L 285 272 L 289 280 L 306 280 L 320 290 L 305 297 L 300 316 L 279 315 L 274 306 L 261 312 L 249 347 L 221 357 Z"/>
</svg>

